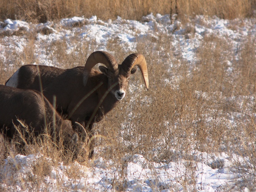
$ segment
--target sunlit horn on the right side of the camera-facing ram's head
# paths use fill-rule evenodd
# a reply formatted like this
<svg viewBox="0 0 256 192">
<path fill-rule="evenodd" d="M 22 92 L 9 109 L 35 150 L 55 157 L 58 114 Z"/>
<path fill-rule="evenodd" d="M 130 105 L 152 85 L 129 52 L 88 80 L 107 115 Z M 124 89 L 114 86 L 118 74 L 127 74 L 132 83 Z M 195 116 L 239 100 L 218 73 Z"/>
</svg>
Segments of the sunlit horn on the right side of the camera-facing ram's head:
<svg viewBox="0 0 256 192">
<path fill-rule="evenodd" d="M 130 54 L 122 62 L 122 68 L 127 73 L 130 73 L 135 65 L 137 65 L 139 67 L 139 70 L 141 70 L 141 74 L 143 76 L 146 88 L 148 89 L 148 69 L 145 57 L 141 54 Z"/>
</svg>

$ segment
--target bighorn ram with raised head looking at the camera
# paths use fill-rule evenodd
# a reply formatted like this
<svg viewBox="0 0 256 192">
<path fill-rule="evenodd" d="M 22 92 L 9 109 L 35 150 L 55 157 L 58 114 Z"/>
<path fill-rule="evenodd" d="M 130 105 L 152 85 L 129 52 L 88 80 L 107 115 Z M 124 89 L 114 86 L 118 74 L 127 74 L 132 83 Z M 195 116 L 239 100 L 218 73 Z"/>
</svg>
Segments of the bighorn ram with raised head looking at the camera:
<svg viewBox="0 0 256 192">
<path fill-rule="evenodd" d="M 101 72 L 93 69 L 97 63 Z M 85 66 L 61 69 L 42 65 L 21 66 L 6 82 L 7 86 L 20 89 L 43 90 L 44 96 L 53 103 L 56 96 L 57 111 L 66 115 L 74 129 L 79 122 L 89 131 L 102 117 L 115 107 L 126 94 L 131 74 L 141 70 L 148 89 L 147 63 L 143 55 L 130 54 L 121 65 L 108 52 L 96 51 L 87 58 Z M 41 83 L 40 83 L 41 82 Z M 91 146 L 93 153 L 93 149 Z M 92 154 L 91 153 L 91 154 Z"/>
</svg>

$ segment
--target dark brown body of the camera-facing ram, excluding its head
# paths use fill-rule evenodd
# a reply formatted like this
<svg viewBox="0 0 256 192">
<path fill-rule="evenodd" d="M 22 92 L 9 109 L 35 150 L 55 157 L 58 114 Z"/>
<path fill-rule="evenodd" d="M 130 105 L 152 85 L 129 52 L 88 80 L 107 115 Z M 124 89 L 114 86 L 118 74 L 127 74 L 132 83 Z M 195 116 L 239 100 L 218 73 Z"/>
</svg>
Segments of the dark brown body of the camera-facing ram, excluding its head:
<svg viewBox="0 0 256 192">
<path fill-rule="evenodd" d="M 50 68 L 50 70 L 49 70 Z M 41 75 L 43 95 L 53 104 L 53 96 L 56 96 L 56 110 L 63 116 L 74 122 L 79 122 L 86 126 L 98 103 L 108 91 L 108 78 L 104 74 L 92 70 L 88 78 L 88 83 L 83 86 L 83 66 L 63 70 L 50 66 L 39 66 L 39 72 L 36 65 L 24 65 L 19 69 L 17 88 L 33 89 L 40 91 L 39 74 Z M 49 71 L 51 71 L 49 73 Z M 29 77 L 29 78 L 27 78 Z M 102 83 L 102 85 L 100 85 Z M 89 94 L 97 85 L 98 89 Z M 88 96 L 79 106 L 78 103 Z M 104 98 L 99 109 L 91 122 L 98 122 L 108 113 L 118 100 L 110 92 Z M 76 110 L 74 111 L 74 109 Z"/>
</svg>

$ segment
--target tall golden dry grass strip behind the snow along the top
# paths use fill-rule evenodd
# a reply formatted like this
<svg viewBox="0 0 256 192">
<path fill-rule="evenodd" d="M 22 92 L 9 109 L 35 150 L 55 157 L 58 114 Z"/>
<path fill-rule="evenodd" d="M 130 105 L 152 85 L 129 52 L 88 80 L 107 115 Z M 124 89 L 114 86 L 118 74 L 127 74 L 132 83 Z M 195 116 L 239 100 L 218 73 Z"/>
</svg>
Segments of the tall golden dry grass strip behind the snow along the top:
<svg viewBox="0 0 256 192">
<path fill-rule="evenodd" d="M 7 18 L 46 22 L 60 18 L 96 15 L 102 20 L 117 18 L 140 20 L 150 13 L 178 14 L 187 20 L 195 15 L 233 19 L 254 17 L 255 0 L 0 0 L 0 20 Z"/>
</svg>

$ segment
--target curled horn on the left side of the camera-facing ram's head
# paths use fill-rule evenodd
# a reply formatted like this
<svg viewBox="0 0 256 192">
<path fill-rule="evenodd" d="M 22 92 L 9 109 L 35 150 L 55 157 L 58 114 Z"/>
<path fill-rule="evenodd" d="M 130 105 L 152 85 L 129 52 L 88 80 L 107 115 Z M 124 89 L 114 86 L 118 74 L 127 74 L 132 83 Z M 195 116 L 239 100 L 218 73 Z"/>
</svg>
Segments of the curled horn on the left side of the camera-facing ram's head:
<svg viewBox="0 0 256 192">
<path fill-rule="evenodd" d="M 91 72 L 91 69 L 98 63 L 102 63 L 106 65 L 106 67 L 111 70 L 115 71 L 118 68 L 117 61 L 113 57 L 113 55 L 109 54 L 108 52 L 104 51 L 96 51 L 93 52 L 88 59 L 86 60 L 84 71 L 83 71 L 83 85 L 85 86 L 87 83 L 87 79 Z"/>
</svg>

